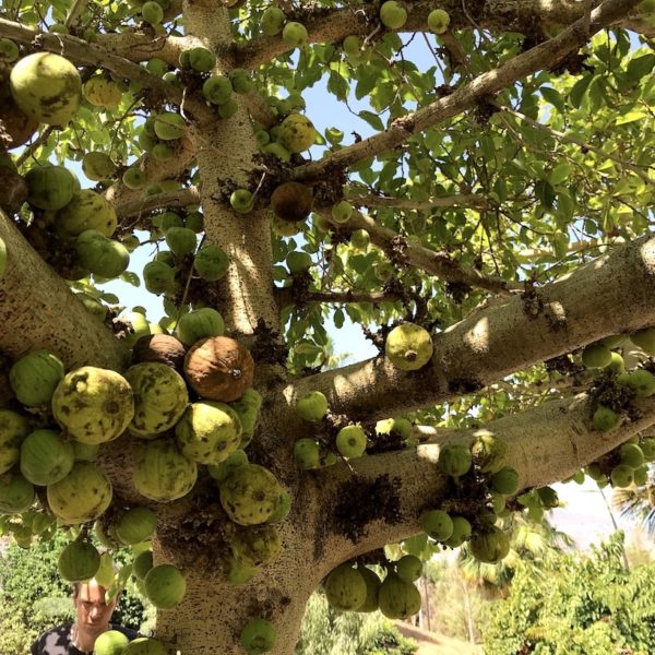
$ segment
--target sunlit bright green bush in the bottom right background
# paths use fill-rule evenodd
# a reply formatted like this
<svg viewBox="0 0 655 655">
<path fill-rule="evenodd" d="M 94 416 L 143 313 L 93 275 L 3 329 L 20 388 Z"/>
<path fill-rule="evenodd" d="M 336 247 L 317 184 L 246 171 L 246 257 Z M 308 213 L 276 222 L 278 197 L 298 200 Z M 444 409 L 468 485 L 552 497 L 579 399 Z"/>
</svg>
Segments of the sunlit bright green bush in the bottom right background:
<svg viewBox="0 0 655 655">
<path fill-rule="evenodd" d="M 593 550 L 520 562 L 509 596 L 488 606 L 487 655 L 655 653 L 655 563 L 633 571 L 617 533 Z"/>
</svg>

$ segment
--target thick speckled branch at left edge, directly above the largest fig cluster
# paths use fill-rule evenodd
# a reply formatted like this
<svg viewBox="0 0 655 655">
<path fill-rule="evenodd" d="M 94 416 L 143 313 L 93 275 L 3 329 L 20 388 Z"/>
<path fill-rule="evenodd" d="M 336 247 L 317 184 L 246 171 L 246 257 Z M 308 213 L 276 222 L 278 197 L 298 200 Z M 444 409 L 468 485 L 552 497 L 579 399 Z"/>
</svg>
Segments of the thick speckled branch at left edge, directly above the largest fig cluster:
<svg viewBox="0 0 655 655">
<path fill-rule="evenodd" d="M 124 345 L 84 308 L 2 213 L 0 238 L 8 252 L 0 278 L 0 350 L 17 358 L 47 348 L 67 368 L 95 365 L 121 370 L 128 356 Z"/>
</svg>

